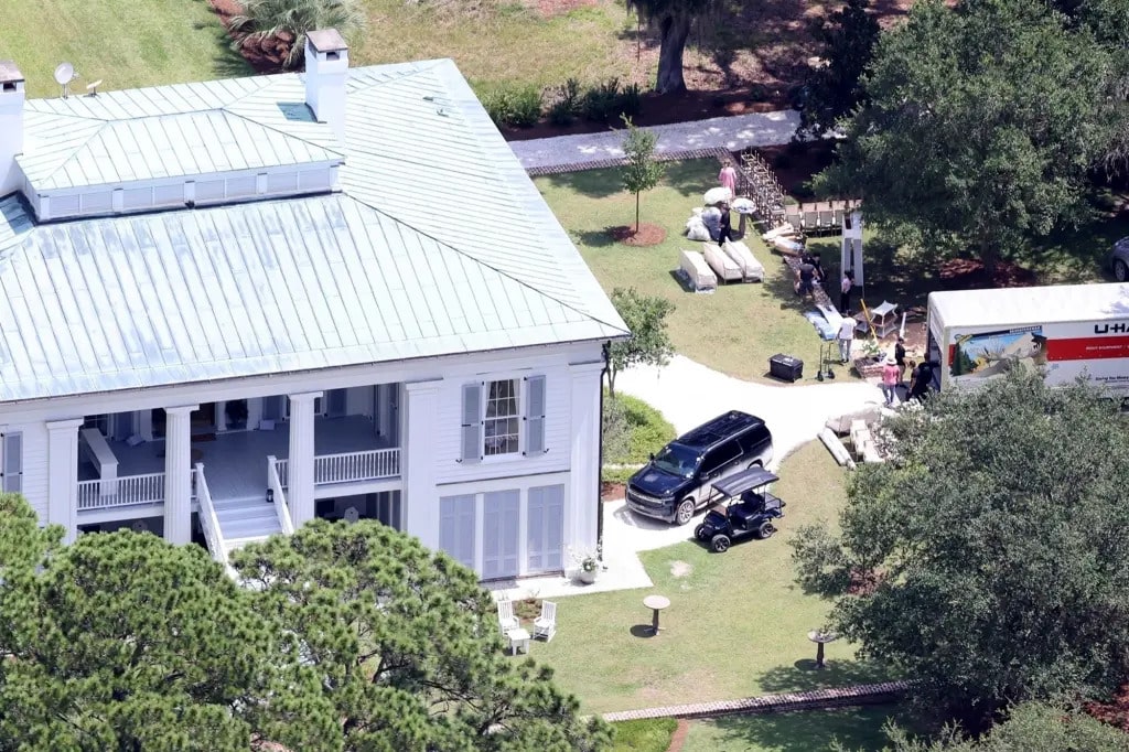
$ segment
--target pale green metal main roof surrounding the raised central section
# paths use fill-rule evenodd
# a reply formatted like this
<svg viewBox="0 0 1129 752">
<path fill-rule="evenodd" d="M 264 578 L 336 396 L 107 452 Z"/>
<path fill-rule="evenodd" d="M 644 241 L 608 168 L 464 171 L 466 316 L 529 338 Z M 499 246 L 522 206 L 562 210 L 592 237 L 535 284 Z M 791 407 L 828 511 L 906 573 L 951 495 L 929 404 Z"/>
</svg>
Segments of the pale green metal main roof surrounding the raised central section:
<svg viewBox="0 0 1129 752">
<path fill-rule="evenodd" d="M 0 200 L 0 401 L 627 333 L 454 63 L 353 69 L 348 90 L 341 193 L 45 225 Z M 32 110 L 67 119 L 60 141 L 222 110 L 342 148 L 294 116 L 304 97 L 290 73 Z"/>
</svg>

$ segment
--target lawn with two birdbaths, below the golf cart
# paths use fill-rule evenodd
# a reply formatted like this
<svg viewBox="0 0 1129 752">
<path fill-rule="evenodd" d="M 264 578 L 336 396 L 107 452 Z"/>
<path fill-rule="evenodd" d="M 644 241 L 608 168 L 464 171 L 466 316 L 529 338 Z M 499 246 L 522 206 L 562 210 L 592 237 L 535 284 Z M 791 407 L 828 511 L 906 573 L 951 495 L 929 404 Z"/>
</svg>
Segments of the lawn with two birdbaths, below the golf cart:
<svg viewBox="0 0 1129 752">
<path fill-rule="evenodd" d="M 828 670 L 811 668 L 807 632 L 824 624 L 829 604 L 794 582 L 787 541 L 805 523 L 837 517 L 846 472 L 822 444 L 805 445 L 785 460 L 773 487 L 788 505 L 776 536 L 723 554 L 691 542 L 645 552 L 654 588 L 560 598 L 557 636 L 536 642 L 533 657 L 553 667 L 585 712 L 885 679 L 855 661 L 846 642 L 828 646 Z M 653 593 L 671 600 L 658 637 L 648 636 L 650 611 L 642 605 Z"/>
</svg>

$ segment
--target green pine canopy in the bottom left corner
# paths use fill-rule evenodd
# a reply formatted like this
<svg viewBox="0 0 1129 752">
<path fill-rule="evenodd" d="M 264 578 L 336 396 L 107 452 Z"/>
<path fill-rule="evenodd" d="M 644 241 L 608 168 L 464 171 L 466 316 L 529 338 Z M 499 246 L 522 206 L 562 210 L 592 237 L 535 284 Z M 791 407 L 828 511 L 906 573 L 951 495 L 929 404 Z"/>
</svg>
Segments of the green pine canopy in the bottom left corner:
<svg viewBox="0 0 1129 752">
<path fill-rule="evenodd" d="M 0 749 L 247 750 L 285 661 L 252 594 L 199 546 L 60 537 L 0 497 Z"/>
</svg>

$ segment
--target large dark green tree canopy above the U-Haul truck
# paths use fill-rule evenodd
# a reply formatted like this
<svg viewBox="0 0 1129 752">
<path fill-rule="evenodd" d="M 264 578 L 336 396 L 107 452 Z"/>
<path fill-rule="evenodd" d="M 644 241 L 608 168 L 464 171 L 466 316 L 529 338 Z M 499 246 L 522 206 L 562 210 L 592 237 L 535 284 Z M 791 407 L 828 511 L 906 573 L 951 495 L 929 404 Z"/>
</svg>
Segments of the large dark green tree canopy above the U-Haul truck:
<svg viewBox="0 0 1129 752">
<path fill-rule="evenodd" d="M 872 221 L 991 268 L 1086 212 L 1087 170 L 1115 137 L 1118 65 L 1042 0 L 938 0 L 882 35 L 823 192 Z"/>
</svg>

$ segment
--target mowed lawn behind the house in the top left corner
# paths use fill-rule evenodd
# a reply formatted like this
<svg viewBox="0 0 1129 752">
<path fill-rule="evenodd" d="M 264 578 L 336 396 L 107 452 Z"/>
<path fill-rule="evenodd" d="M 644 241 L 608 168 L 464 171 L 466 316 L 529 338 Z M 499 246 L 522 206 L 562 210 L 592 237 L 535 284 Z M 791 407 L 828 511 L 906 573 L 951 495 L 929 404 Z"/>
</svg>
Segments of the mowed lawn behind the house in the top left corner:
<svg viewBox="0 0 1129 752">
<path fill-rule="evenodd" d="M 54 97 L 63 61 L 75 93 L 250 75 L 207 0 L 5 0 L 0 60 L 15 60 L 28 96 Z"/>
</svg>

